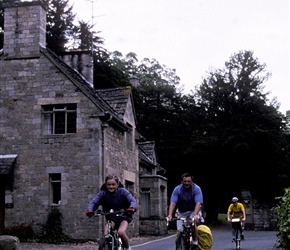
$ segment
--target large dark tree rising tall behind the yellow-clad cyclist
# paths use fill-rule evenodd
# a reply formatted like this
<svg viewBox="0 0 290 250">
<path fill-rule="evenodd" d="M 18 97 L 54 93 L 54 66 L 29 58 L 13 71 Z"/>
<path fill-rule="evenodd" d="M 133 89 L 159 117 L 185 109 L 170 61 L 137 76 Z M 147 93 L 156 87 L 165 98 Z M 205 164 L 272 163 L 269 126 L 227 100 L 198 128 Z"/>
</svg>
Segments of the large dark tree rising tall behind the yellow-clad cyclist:
<svg viewBox="0 0 290 250">
<path fill-rule="evenodd" d="M 192 136 L 188 157 L 207 169 L 207 183 L 219 188 L 219 195 L 206 189 L 207 207 L 217 209 L 242 189 L 273 201 L 282 189 L 285 123 L 277 104 L 263 93 L 263 83 L 270 77 L 265 69 L 253 52 L 241 51 L 225 69 L 210 72 L 197 89 L 204 119 L 199 133 Z M 197 168 L 199 174 L 203 171 Z M 267 185 L 265 192 L 265 183 L 275 185 Z"/>
</svg>

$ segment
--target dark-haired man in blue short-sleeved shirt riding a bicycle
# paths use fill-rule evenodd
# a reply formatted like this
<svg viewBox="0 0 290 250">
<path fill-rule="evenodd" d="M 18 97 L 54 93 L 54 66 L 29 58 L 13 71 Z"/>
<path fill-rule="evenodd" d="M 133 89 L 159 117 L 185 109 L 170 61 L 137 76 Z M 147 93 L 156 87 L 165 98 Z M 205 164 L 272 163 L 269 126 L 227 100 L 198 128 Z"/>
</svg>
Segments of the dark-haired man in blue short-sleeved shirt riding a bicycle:
<svg viewBox="0 0 290 250">
<path fill-rule="evenodd" d="M 202 203 L 203 196 L 201 188 L 193 183 L 192 175 L 185 173 L 181 176 L 181 184 L 176 186 L 172 192 L 167 218 L 170 221 L 175 208 L 177 208 L 177 217 L 186 217 L 197 221 L 197 215 L 199 214 Z M 198 249 L 196 223 L 194 223 L 191 229 L 193 236 L 193 245 L 191 249 Z"/>
</svg>

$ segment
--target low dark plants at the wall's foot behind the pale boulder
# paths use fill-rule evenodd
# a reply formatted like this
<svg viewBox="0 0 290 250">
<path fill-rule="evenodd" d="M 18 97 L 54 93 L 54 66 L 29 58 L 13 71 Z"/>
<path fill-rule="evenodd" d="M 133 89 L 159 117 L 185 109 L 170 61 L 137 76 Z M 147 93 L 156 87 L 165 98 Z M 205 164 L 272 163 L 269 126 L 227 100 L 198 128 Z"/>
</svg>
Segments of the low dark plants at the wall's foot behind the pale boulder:
<svg viewBox="0 0 290 250">
<path fill-rule="evenodd" d="M 33 223 L 20 223 L 18 225 L 7 227 L 2 231 L 3 235 L 16 236 L 21 242 L 29 242 L 34 238 Z"/>
</svg>

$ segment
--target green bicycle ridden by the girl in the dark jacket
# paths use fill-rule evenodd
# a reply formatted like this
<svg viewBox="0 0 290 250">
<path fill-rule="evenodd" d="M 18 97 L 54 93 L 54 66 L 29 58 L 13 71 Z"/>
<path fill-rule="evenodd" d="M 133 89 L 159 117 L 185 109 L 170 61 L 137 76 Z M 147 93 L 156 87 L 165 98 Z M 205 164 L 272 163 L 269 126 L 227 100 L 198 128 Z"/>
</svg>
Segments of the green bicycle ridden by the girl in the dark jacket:
<svg viewBox="0 0 290 250">
<path fill-rule="evenodd" d="M 124 214 L 124 210 L 114 211 L 111 209 L 109 212 L 104 212 L 102 210 L 97 210 L 94 216 L 106 216 L 106 215 L 117 215 L 122 216 Z M 99 250 L 122 250 L 123 243 L 121 238 L 118 235 L 117 228 L 113 228 L 113 223 L 111 220 L 107 220 L 108 224 L 108 234 L 105 235 L 104 238 L 99 241 Z"/>
</svg>

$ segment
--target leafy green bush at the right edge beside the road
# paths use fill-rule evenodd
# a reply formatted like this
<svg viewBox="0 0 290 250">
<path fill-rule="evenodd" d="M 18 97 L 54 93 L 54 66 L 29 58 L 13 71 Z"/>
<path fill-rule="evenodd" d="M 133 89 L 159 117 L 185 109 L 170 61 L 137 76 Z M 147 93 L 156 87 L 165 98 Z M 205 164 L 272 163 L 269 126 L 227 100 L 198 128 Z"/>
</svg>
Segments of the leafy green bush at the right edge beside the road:
<svg viewBox="0 0 290 250">
<path fill-rule="evenodd" d="M 284 195 L 276 197 L 279 204 L 273 208 L 278 215 L 278 238 L 280 246 L 290 249 L 290 187 L 284 189 Z"/>
</svg>

